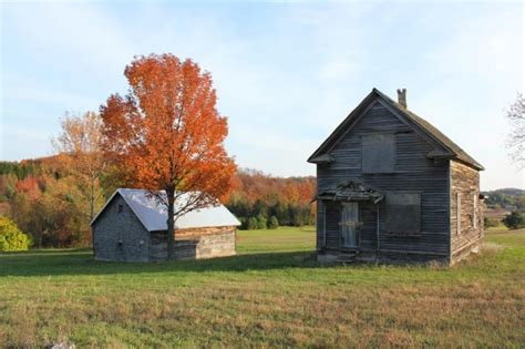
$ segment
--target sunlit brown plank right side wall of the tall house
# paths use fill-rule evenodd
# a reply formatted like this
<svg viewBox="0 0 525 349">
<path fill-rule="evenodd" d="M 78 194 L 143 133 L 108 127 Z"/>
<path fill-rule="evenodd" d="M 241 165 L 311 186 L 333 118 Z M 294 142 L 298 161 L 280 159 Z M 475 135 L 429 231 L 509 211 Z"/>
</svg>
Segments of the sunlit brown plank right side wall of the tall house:
<svg viewBox="0 0 525 349">
<path fill-rule="evenodd" d="M 480 239 L 483 238 L 483 204 L 478 199 L 480 173 L 476 170 L 451 161 L 450 175 L 451 253 L 454 260 L 476 248 Z M 460 214 L 457 213 L 457 195 L 460 195 Z M 475 206 L 476 212 L 474 213 Z M 457 219 L 461 219 L 460 226 Z"/>
</svg>

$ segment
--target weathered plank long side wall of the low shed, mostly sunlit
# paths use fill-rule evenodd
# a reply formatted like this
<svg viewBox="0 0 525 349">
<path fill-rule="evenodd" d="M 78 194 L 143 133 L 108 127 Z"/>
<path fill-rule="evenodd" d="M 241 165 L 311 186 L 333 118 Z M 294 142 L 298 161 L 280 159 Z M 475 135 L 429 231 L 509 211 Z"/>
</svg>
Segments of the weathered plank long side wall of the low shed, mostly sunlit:
<svg viewBox="0 0 525 349">
<path fill-rule="evenodd" d="M 205 227 L 175 232 L 175 255 L 177 259 L 204 259 L 235 255 L 236 227 Z M 151 260 L 167 258 L 165 232 L 153 232 L 150 249 Z"/>
</svg>

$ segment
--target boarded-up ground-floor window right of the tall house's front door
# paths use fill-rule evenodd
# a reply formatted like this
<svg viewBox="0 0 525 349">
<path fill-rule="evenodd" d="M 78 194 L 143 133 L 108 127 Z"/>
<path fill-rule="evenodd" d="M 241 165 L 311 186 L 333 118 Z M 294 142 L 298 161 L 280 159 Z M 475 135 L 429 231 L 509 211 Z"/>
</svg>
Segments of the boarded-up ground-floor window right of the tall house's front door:
<svg viewBox="0 0 525 349">
<path fill-rule="evenodd" d="M 385 228 L 393 234 L 421 233 L 421 193 L 387 193 Z"/>
</svg>

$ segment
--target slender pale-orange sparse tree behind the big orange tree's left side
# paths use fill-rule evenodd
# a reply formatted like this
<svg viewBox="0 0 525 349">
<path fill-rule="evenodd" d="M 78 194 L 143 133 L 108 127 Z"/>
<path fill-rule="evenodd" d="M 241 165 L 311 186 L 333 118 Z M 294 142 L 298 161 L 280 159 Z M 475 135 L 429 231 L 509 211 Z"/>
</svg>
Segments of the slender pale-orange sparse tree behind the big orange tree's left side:
<svg viewBox="0 0 525 349">
<path fill-rule="evenodd" d="M 102 205 L 100 181 L 107 167 L 102 156 L 101 126 L 102 120 L 94 112 L 83 115 L 65 114 L 62 133 L 52 142 L 65 171 L 76 177 L 80 186 L 87 188 L 85 195 L 90 203 L 90 220 Z"/>
</svg>

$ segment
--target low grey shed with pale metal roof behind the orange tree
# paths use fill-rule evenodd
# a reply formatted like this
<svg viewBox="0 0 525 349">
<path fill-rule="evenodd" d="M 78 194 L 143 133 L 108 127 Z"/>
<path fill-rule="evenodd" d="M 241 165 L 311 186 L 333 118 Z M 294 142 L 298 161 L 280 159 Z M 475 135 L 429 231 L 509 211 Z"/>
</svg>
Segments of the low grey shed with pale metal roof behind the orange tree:
<svg viewBox="0 0 525 349">
<path fill-rule="evenodd" d="M 117 189 L 90 223 L 95 259 L 167 259 L 166 222 L 167 208 L 147 191 Z M 238 225 L 220 204 L 185 214 L 175 222 L 176 258 L 235 255 Z"/>
</svg>

